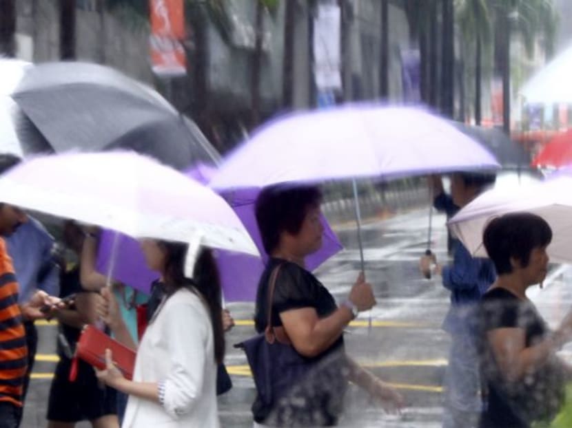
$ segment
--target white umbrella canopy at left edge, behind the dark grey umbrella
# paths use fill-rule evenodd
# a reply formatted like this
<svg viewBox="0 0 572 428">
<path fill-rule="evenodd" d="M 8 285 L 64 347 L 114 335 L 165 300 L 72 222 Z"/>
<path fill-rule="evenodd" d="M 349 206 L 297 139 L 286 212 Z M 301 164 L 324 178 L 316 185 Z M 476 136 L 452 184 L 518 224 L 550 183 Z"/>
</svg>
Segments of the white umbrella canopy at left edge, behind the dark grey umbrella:
<svg viewBox="0 0 572 428">
<path fill-rule="evenodd" d="M 0 153 L 22 157 L 52 151 L 48 142 L 10 98 L 31 63 L 0 58 Z"/>
</svg>

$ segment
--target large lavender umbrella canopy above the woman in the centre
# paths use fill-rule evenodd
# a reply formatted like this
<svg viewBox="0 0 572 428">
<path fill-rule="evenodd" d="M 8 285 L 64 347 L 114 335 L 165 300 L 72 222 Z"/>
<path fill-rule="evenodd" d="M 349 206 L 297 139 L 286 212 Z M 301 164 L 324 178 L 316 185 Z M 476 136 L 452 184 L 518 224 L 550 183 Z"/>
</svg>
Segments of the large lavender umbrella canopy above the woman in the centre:
<svg viewBox="0 0 572 428">
<path fill-rule="evenodd" d="M 254 132 L 221 164 L 214 189 L 467 169 L 495 158 L 447 120 L 422 109 L 344 105 L 285 116 Z"/>
</svg>

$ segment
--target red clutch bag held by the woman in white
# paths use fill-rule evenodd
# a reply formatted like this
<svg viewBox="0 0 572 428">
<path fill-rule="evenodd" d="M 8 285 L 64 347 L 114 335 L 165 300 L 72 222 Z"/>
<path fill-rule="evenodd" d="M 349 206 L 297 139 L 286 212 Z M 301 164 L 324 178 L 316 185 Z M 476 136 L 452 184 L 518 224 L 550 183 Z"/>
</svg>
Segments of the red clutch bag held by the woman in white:
<svg viewBox="0 0 572 428">
<path fill-rule="evenodd" d="M 106 349 L 111 350 L 113 363 L 121 370 L 123 376 L 131 380 L 135 367 L 135 351 L 112 339 L 94 325 L 87 325 L 83 328 L 76 345 L 76 358 L 103 370 L 105 369 Z M 73 372 L 74 367 L 70 372 L 70 380 L 75 377 Z"/>
</svg>

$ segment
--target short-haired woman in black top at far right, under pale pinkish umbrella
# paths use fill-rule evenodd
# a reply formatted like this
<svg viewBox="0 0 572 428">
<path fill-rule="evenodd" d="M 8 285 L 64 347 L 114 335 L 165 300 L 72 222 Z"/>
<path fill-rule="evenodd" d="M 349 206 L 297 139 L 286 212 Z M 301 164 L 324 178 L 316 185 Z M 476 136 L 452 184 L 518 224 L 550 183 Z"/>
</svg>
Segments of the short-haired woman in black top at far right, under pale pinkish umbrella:
<svg viewBox="0 0 572 428">
<path fill-rule="evenodd" d="M 481 427 L 527 428 L 542 413 L 540 407 L 558 410 L 562 378 L 570 372 L 555 352 L 572 339 L 572 314 L 551 333 L 526 295 L 547 275 L 551 239 L 549 224 L 530 213 L 503 215 L 484 230 L 483 243 L 498 279 L 481 301 L 482 367 L 488 385 Z M 542 391 L 540 400 L 535 401 L 534 391 Z"/>
</svg>

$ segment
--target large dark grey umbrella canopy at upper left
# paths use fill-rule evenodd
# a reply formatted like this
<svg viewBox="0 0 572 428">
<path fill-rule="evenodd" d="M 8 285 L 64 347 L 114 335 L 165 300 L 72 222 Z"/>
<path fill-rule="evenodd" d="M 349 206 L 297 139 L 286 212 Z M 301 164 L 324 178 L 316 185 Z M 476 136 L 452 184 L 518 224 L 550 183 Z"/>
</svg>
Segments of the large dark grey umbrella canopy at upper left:
<svg viewBox="0 0 572 428">
<path fill-rule="evenodd" d="M 219 159 L 192 120 L 154 89 L 110 67 L 39 64 L 25 73 L 12 98 L 57 152 L 134 149 L 178 169 Z"/>
</svg>

